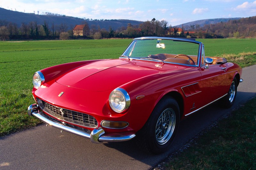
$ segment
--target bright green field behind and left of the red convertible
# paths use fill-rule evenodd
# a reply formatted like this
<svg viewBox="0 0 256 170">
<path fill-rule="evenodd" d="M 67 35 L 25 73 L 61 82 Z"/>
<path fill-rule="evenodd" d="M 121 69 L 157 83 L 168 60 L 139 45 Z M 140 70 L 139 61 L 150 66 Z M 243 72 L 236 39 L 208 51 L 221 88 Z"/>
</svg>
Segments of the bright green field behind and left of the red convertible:
<svg viewBox="0 0 256 170">
<path fill-rule="evenodd" d="M 34 103 L 31 94 L 34 72 L 61 63 L 118 58 L 131 41 L 131 39 L 1 41 L 0 136 L 39 123 L 37 119 L 27 115 L 27 107 Z M 256 39 L 198 41 L 205 44 L 207 56 L 229 54 L 231 60 L 243 67 L 256 62 Z M 240 57 L 240 54 L 244 57 Z"/>
</svg>

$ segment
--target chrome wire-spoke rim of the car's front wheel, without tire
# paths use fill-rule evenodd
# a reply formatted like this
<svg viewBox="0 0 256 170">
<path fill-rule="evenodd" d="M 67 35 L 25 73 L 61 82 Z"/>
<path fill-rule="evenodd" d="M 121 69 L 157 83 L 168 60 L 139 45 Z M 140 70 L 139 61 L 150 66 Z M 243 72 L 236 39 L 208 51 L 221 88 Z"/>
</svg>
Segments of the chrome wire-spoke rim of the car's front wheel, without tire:
<svg viewBox="0 0 256 170">
<path fill-rule="evenodd" d="M 175 112 L 172 108 L 165 109 L 159 116 L 155 137 L 158 144 L 165 144 L 172 137 L 176 123 Z"/>
</svg>

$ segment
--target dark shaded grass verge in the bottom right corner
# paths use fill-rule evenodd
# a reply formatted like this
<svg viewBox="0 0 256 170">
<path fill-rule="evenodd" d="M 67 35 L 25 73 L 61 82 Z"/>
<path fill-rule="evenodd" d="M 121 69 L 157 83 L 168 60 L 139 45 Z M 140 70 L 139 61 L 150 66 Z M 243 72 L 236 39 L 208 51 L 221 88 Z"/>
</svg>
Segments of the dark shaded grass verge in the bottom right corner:
<svg viewBox="0 0 256 170">
<path fill-rule="evenodd" d="M 256 169 L 256 98 L 169 157 L 161 169 Z"/>
</svg>

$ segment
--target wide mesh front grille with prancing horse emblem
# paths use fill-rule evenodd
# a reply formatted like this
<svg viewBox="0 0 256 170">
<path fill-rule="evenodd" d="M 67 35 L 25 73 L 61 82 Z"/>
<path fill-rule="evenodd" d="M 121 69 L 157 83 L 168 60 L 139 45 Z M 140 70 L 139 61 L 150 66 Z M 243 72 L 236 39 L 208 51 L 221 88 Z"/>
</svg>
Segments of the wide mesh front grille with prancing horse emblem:
<svg viewBox="0 0 256 170">
<path fill-rule="evenodd" d="M 97 120 L 91 115 L 56 107 L 38 98 L 36 100 L 41 109 L 43 109 L 46 113 L 60 120 L 64 120 L 66 122 L 70 122 L 70 123 L 74 123 L 77 125 L 90 127 L 90 128 L 96 128 L 98 126 Z"/>
</svg>

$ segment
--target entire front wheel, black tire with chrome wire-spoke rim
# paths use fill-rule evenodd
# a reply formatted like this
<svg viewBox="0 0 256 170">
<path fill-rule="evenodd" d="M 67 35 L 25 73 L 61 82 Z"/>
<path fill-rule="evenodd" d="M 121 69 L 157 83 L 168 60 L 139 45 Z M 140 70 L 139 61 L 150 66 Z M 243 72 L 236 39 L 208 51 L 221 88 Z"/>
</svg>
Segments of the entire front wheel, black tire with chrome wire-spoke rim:
<svg viewBox="0 0 256 170">
<path fill-rule="evenodd" d="M 163 97 L 143 128 L 137 142 L 141 149 L 153 154 L 165 152 L 172 143 L 180 124 L 180 109 L 172 97 Z"/>
</svg>

